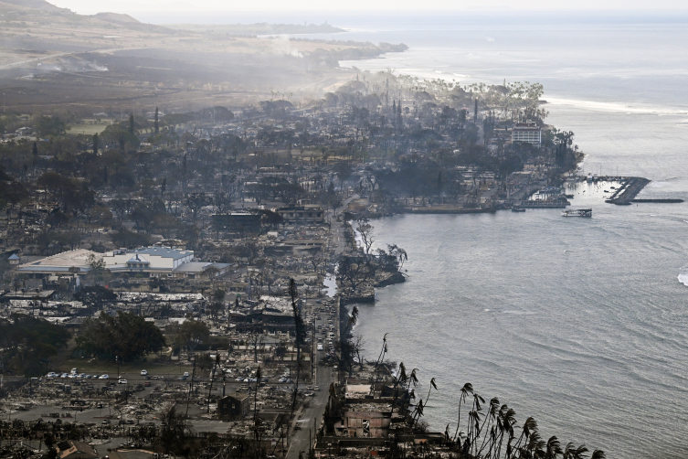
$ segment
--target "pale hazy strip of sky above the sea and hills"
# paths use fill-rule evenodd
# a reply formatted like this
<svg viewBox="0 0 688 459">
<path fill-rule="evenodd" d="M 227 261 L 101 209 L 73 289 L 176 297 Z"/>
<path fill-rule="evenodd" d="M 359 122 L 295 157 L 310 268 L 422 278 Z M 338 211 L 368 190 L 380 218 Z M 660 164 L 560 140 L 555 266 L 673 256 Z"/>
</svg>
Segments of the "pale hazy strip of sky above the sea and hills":
<svg viewBox="0 0 688 459">
<path fill-rule="evenodd" d="M 353 12 L 365 13 L 404 13 L 418 12 L 421 14 L 439 12 L 460 12 L 460 11 L 552 11 L 552 10 L 571 10 L 571 11 L 646 11 L 656 13 L 658 11 L 683 10 L 688 11 L 688 1 L 686 0 L 346 0 L 346 1 L 323 1 L 323 0 L 146 0 L 145 2 L 135 0 L 48 0 L 50 3 L 60 7 L 83 14 L 91 15 L 100 12 L 125 13 L 134 17 L 146 19 L 147 22 L 160 23 L 161 20 L 154 20 L 160 17 L 162 22 L 172 17 L 180 19 L 189 17 L 206 16 L 208 20 L 216 18 L 215 22 L 222 22 L 220 17 L 231 17 L 236 15 L 238 20 L 243 22 L 252 20 L 254 17 L 280 16 L 286 14 L 293 16 L 296 13 L 303 13 L 302 16 L 321 16 L 322 13 L 343 12 L 351 14 Z M 319 13 L 313 15 L 313 13 Z M 336 15 L 330 21 L 336 25 Z M 308 17 L 304 18 L 308 20 Z M 259 21 L 259 19 L 256 19 Z M 188 22 L 188 21 L 184 21 Z M 206 22 L 206 20 L 203 20 Z"/>
</svg>

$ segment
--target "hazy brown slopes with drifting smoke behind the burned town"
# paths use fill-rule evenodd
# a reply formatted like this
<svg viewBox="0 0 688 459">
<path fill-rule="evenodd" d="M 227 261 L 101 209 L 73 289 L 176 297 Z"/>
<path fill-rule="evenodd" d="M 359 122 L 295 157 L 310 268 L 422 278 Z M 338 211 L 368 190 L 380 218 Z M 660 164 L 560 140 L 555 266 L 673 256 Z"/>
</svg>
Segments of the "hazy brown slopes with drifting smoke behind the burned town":
<svg viewBox="0 0 688 459">
<path fill-rule="evenodd" d="M 122 14 L 78 15 L 44 0 L 12 1 L 0 3 L 0 91 L 6 110 L 18 113 L 196 110 L 276 92 L 320 98 L 352 78 L 340 60 L 396 50 L 270 37 L 342 30 L 328 24 L 172 29 Z"/>
</svg>

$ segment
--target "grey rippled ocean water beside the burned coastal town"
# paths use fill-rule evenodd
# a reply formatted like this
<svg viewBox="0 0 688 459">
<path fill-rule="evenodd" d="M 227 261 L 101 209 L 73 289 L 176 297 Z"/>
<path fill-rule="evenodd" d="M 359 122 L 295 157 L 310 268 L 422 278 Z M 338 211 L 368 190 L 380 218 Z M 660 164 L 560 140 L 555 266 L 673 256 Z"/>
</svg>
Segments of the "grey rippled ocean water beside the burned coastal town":
<svg viewBox="0 0 688 459">
<path fill-rule="evenodd" d="M 574 131 L 585 172 L 645 176 L 640 197 L 688 200 L 684 16 L 351 19 L 338 38 L 408 44 L 343 62 L 461 83 L 539 81 L 548 123 Z M 439 391 L 426 421 L 453 432 L 471 382 L 534 416 L 543 437 L 609 458 L 688 457 L 688 203 L 616 207 L 580 184 L 574 207 L 373 222 L 408 251 L 408 282 L 360 306 L 376 358 L 418 368 Z M 584 193 L 583 191 L 586 191 Z M 426 392 L 427 393 L 427 392 Z"/>
</svg>

